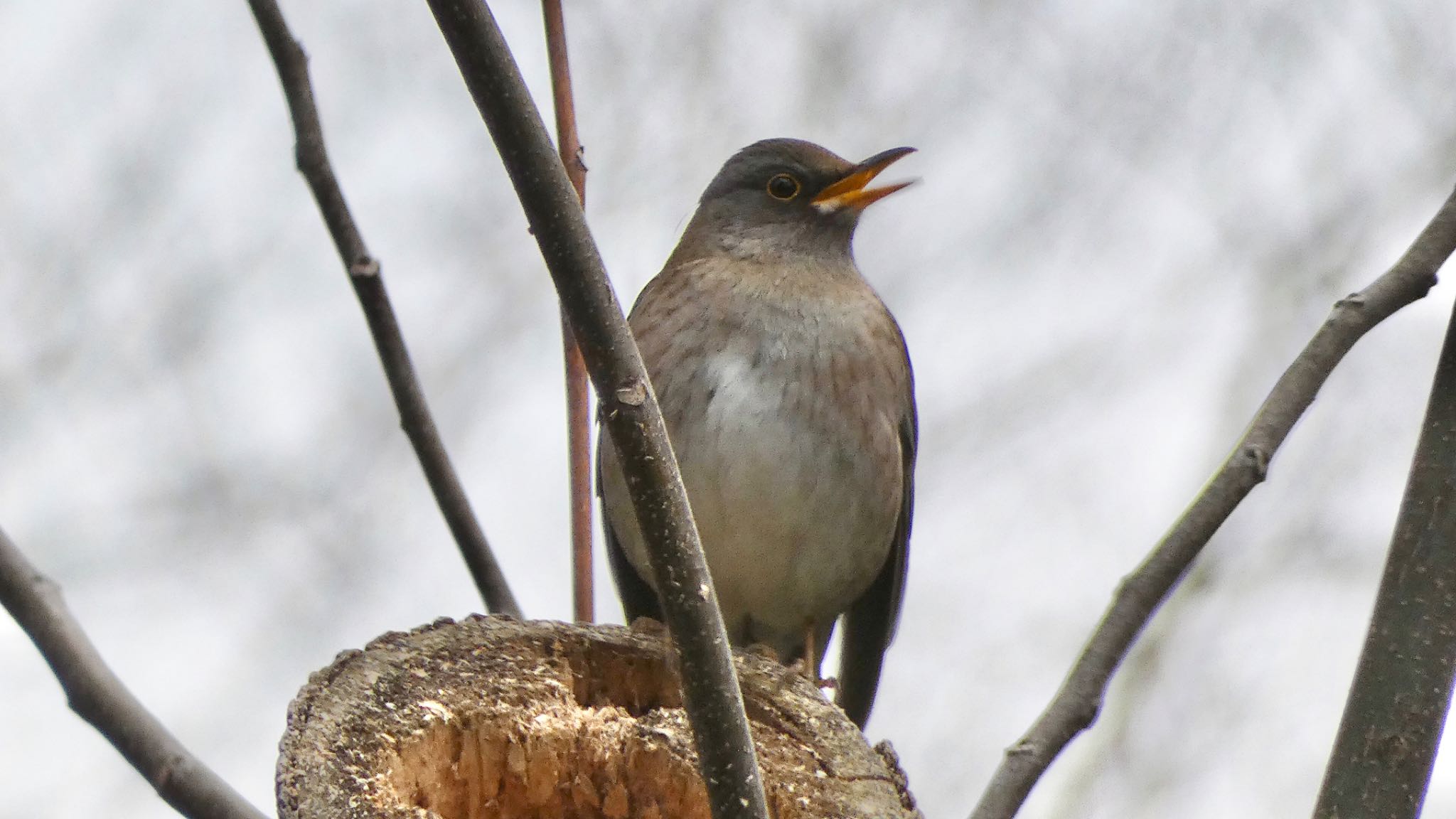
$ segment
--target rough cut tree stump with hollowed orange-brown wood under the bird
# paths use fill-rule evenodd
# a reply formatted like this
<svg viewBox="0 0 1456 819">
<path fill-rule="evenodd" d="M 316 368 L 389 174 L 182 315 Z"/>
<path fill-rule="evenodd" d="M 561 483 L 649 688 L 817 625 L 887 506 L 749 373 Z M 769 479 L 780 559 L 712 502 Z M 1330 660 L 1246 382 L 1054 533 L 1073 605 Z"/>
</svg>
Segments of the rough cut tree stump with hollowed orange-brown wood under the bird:
<svg viewBox="0 0 1456 819">
<path fill-rule="evenodd" d="M 735 662 L 773 816 L 923 819 L 888 743 L 772 657 Z M 386 634 L 309 678 L 277 784 L 280 819 L 709 819 L 661 628 Z"/>
</svg>

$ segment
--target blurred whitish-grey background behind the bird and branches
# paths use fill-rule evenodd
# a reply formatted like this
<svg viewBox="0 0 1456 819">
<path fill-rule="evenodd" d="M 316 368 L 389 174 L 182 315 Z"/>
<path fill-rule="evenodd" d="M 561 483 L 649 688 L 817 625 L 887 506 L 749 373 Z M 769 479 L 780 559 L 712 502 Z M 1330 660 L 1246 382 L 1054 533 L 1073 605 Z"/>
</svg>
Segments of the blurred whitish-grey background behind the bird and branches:
<svg viewBox="0 0 1456 819">
<path fill-rule="evenodd" d="M 555 296 L 422 3 L 284 3 L 437 420 L 523 606 L 569 616 Z M 495 13 L 537 101 L 540 12 Z M 1456 181 L 1456 9 L 568 3 L 588 217 L 630 302 L 735 149 L 910 144 L 860 267 L 909 337 L 919 506 L 871 737 L 961 816 L 1329 305 Z M 546 105 L 549 112 L 549 105 Z M 290 697 L 480 603 L 242 0 L 0 3 L 0 525 L 272 812 Z M 1029 818 L 1299 816 L 1452 287 L 1360 342 Z M 598 579 L 600 615 L 620 612 Z M 0 816 L 165 818 L 0 618 Z M 1437 764 L 1428 815 L 1456 812 Z"/>
</svg>

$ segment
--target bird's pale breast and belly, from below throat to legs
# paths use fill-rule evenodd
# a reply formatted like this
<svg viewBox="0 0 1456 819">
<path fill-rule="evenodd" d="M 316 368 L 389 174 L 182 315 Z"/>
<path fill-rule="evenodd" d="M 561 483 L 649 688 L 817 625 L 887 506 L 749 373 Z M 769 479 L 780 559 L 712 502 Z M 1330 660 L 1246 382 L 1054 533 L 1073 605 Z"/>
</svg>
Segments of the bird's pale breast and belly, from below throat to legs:
<svg viewBox="0 0 1456 819">
<path fill-rule="evenodd" d="M 792 646 L 884 564 L 906 386 L 884 347 L 893 322 L 894 338 L 877 322 L 878 300 L 862 315 L 745 307 L 644 344 L 729 632 L 751 618 L 750 637 Z"/>
</svg>

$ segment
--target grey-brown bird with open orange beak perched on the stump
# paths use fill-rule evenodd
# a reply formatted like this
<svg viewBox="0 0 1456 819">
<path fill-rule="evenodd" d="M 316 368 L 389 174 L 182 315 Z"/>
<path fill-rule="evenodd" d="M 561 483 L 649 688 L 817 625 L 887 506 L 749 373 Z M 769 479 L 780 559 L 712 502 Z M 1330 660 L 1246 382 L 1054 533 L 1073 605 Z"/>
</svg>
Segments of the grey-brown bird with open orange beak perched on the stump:
<svg viewBox="0 0 1456 819">
<path fill-rule="evenodd" d="M 863 729 L 900 619 L 917 421 L 900 325 L 852 239 L 869 182 L 914 149 L 852 163 L 770 138 L 712 179 L 629 325 L 687 490 L 729 643 L 818 682 Z M 609 565 L 628 622 L 661 619 L 616 449 L 598 436 Z"/>
</svg>

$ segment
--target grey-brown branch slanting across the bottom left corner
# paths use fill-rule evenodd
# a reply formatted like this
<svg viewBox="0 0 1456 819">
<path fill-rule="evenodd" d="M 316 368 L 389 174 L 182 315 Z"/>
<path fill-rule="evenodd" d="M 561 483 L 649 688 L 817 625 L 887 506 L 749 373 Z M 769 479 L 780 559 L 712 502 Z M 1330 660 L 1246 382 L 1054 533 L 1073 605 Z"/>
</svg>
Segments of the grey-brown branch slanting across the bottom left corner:
<svg viewBox="0 0 1456 819">
<path fill-rule="evenodd" d="M 67 704 L 125 756 L 178 813 L 192 819 L 264 819 L 264 815 L 192 755 L 106 667 L 61 599 L 0 530 L 0 605 L 26 632 Z"/>
</svg>

